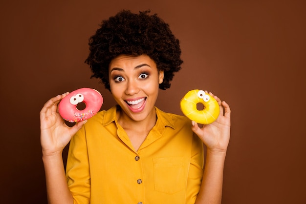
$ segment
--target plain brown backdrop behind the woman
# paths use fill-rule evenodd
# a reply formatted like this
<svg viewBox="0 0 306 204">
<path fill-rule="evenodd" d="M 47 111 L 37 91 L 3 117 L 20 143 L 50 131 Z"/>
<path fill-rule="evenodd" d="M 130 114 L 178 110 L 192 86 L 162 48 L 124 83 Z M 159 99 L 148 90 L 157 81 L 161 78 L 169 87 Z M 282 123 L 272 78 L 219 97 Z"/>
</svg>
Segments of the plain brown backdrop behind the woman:
<svg viewBox="0 0 306 204">
<path fill-rule="evenodd" d="M 98 89 L 87 40 L 121 9 L 151 9 L 181 41 L 183 69 L 157 106 L 181 114 L 191 89 L 231 105 L 223 204 L 306 203 L 304 0 L 0 2 L 0 202 L 45 204 L 39 111 L 57 94 Z M 65 154 L 64 154 L 65 158 Z"/>
</svg>

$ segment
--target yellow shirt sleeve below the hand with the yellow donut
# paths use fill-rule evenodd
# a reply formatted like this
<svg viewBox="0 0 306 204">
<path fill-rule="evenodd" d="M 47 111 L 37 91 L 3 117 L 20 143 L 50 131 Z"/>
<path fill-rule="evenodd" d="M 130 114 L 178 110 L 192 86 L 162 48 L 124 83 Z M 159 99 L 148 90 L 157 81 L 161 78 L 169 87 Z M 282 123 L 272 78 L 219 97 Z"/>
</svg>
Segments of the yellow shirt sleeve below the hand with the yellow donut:
<svg viewBox="0 0 306 204">
<path fill-rule="evenodd" d="M 191 149 L 191 160 L 188 171 L 187 191 L 186 191 L 186 204 L 195 204 L 197 194 L 202 184 L 204 173 L 204 148 L 203 143 L 193 135 L 193 143 Z"/>
</svg>

